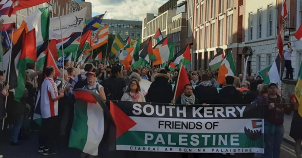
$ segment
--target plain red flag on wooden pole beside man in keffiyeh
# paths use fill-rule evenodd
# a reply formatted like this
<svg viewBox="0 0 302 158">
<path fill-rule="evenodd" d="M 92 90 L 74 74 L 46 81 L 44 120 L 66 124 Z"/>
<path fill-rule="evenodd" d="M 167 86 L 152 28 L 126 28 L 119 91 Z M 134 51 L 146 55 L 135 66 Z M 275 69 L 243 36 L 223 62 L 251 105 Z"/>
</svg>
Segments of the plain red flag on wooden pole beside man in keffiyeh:
<svg viewBox="0 0 302 158">
<path fill-rule="evenodd" d="M 186 73 L 185 67 L 181 63 L 180 70 L 178 73 L 176 88 L 175 88 L 175 92 L 174 92 L 175 100 L 182 96 L 182 93 L 184 93 L 186 84 L 190 84 L 190 81 L 189 81 L 188 75 Z"/>
</svg>

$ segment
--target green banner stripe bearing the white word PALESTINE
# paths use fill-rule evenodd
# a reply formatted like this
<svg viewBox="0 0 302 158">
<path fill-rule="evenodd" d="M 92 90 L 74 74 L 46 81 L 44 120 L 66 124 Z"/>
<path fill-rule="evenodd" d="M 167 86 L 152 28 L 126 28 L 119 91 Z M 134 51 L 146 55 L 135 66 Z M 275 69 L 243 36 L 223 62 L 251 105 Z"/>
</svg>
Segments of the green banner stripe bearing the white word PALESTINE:
<svg viewBox="0 0 302 158">
<path fill-rule="evenodd" d="M 264 134 L 250 140 L 245 133 L 174 133 L 127 131 L 116 140 L 117 145 L 150 147 L 219 147 L 264 148 Z"/>
</svg>

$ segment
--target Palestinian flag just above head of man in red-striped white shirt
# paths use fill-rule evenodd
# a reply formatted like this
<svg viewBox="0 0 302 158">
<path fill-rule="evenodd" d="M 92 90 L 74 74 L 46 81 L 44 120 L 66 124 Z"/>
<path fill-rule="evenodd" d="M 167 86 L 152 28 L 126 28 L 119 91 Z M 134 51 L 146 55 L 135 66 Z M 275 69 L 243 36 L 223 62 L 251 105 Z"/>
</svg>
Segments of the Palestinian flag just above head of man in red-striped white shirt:
<svg viewBox="0 0 302 158">
<path fill-rule="evenodd" d="M 44 62 L 46 60 L 46 54 L 51 52 L 53 58 L 58 60 L 58 53 L 56 49 L 56 40 L 52 39 L 44 41 L 42 45 L 37 48 L 37 70 L 42 70 Z"/>
</svg>

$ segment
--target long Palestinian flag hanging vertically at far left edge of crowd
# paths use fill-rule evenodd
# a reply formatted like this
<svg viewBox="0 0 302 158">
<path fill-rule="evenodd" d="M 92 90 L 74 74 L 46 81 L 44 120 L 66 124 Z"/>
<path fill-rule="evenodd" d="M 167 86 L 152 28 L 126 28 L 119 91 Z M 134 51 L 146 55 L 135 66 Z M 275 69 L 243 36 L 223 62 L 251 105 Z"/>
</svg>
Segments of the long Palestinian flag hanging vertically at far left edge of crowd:
<svg viewBox="0 0 302 158">
<path fill-rule="evenodd" d="M 14 92 L 14 100 L 20 102 L 24 91 L 25 91 L 25 71 L 26 71 L 26 51 L 25 51 L 25 40 L 26 32 L 23 31 L 17 41 L 13 46 L 11 51 L 11 62 L 10 62 L 10 72 L 9 80 L 6 76 L 6 81 L 8 81 L 10 91 Z"/>
</svg>

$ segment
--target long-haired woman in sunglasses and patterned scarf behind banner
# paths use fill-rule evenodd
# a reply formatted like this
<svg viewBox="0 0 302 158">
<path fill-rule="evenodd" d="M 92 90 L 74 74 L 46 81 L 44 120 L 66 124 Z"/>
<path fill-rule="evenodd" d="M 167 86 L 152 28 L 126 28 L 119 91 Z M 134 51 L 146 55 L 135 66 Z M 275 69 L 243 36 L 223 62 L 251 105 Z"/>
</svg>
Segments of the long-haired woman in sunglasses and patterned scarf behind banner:
<svg viewBox="0 0 302 158">
<path fill-rule="evenodd" d="M 121 98 L 121 101 L 137 101 L 146 102 L 145 96 L 140 92 L 140 82 L 132 79 L 128 85 L 126 93 Z"/>
</svg>

